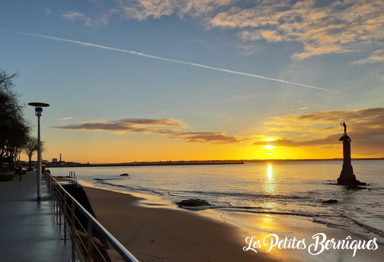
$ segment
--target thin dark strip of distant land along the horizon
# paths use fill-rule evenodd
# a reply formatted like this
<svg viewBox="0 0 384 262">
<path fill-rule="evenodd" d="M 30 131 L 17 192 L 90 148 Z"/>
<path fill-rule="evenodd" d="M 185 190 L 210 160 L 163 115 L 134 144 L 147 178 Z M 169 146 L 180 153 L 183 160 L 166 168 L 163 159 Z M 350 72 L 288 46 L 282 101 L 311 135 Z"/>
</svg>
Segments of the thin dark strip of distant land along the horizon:
<svg viewBox="0 0 384 262">
<path fill-rule="evenodd" d="M 332 159 L 253 159 L 253 160 L 202 160 L 202 161 L 159 161 L 159 162 L 130 162 L 130 163 L 102 163 L 81 164 L 68 163 L 62 165 L 49 164 L 48 167 L 140 167 L 140 166 L 196 166 L 196 165 L 242 165 L 245 163 L 261 162 L 310 162 L 310 161 L 342 161 L 342 158 Z M 353 161 L 384 160 L 384 158 L 355 158 Z"/>
</svg>

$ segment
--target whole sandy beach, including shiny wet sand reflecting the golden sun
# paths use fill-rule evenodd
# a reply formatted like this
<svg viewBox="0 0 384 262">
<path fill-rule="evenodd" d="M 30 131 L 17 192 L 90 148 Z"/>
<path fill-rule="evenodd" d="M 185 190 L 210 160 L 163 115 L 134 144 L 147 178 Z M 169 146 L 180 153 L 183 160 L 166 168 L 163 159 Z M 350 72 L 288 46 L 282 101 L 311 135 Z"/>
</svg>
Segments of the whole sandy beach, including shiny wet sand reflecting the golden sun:
<svg viewBox="0 0 384 262">
<path fill-rule="evenodd" d="M 166 204 L 143 205 L 132 194 L 84 187 L 97 220 L 140 261 L 381 261 L 382 246 L 376 250 L 330 249 L 313 255 L 308 252 L 312 236 L 324 233 L 327 238 L 343 240 L 343 230 L 313 223 L 309 218 L 284 215 L 252 216 L 254 232 L 236 226 L 230 219 L 213 219 L 199 212 L 167 208 Z M 145 201 L 144 201 L 145 202 Z M 148 201 L 147 201 L 148 202 Z M 169 207 L 169 206 L 168 206 Z M 217 216 L 219 218 L 219 216 Z M 245 238 L 263 239 L 275 233 L 305 239 L 307 248 L 269 246 L 244 251 Z M 353 237 L 356 239 L 356 237 Z"/>
</svg>

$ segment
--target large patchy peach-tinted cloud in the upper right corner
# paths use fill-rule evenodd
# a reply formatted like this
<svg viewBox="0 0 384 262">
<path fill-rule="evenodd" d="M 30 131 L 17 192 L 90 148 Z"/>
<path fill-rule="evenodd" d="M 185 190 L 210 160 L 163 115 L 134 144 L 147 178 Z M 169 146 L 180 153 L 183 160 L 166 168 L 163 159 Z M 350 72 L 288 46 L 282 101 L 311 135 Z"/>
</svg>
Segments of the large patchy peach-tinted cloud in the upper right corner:
<svg viewBox="0 0 384 262">
<path fill-rule="evenodd" d="M 294 41 L 303 50 L 292 55 L 304 59 L 329 53 L 360 52 L 384 47 L 384 2 L 381 0 L 288 1 L 260 0 L 251 8 L 234 7 L 209 20 L 209 28 L 237 28 L 244 42 Z M 380 48 L 381 47 L 381 48 Z M 380 52 L 380 50 L 377 50 Z M 355 64 L 382 61 L 382 54 Z"/>
</svg>

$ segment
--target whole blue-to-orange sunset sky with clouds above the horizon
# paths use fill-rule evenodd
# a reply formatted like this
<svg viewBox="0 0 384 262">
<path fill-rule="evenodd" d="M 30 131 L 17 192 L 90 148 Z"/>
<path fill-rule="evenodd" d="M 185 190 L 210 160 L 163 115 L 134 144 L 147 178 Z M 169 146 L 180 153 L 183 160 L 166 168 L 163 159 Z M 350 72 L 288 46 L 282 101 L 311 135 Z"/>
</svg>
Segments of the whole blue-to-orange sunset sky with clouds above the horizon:
<svg viewBox="0 0 384 262">
<path fill-rule="evenodd" d="M 1 6 L 0 69 L 34 126 L 50 104 L 44 160 L 341 158 L 341 122 L 384 157 L 382 0 Z"/>
</svg>

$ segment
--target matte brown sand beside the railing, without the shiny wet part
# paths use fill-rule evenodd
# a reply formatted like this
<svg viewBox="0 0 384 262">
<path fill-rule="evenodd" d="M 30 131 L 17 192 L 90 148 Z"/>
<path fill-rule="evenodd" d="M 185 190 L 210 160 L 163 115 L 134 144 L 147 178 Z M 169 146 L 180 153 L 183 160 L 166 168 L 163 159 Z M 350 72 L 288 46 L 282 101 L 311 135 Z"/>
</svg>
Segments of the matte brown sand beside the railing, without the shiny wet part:
<svg viewBox="0 0 384 262">
<path fill-rule="evenodd" d="M 140 261 L 277 261 L 243 251 L 235 226 L 191 211 L 138 206 L 130 194 L 84 190 L 97 220 Z"/>
</svg>

